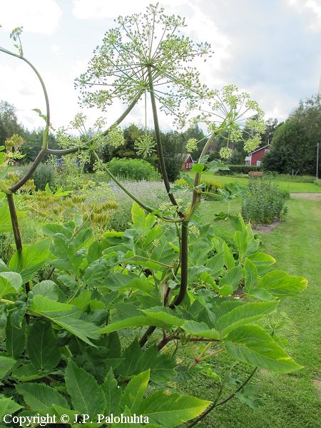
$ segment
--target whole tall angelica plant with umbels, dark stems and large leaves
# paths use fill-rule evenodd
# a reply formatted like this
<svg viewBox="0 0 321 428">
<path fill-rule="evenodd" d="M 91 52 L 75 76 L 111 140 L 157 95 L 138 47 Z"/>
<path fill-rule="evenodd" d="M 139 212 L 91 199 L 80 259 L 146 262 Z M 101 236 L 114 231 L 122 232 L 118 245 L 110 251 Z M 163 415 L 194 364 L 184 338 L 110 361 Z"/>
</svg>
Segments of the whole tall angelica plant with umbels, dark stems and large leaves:
<svg viewBox="0 0 321 428">
<path fill-rule="evenodd" d="M 263 111 L 247 93 L 239 93 L 235 86 L 225 86 L 217 91 L 200 82 L 200 74 L 192 61 L 210 56 L 210 45 L 195 44 L 184 35 L 184 29 L 184 19 L 166 16 L 158 5 L 148 6 L 146 14 L 119 17 L 116 28 L 107 31 L 103 43 L 94 51 L 87 71 L 75 83 L 86 106 L 98 106 L 108 112 L 116 98 L 125 103 L 126 108 L 107 129 L 106 122 L 99 119 L 93 132 L 86 128 L 83 113 L 78 114 L 67 128 L 58 131 L 61 146 L 58 150 L 49 148 L 47 144 L 51 128 L 48 96 L 38 71 L 24 58 L 21 31 L 14 31 L 13 36 L 19 54 L 0 48 L 5 54 L 31 66 L 39 77 L 46 99 L 46 114 L 38 111 L 46 121 L 41 152 L 19 183 L 6 188 L 0 182 L 0 188 L 8 198 L 17 248 L 9 266 L 4 267 L 5 271 L 11 269 L 13 272 L 0 272 L 1 308 L 13 307 L 8 311 L 7 330 L 10 334 L 6 350 L 13 357 L 10 362 L 14 367 L 12 377 L 20 382 L 16 384 L 14 380 L 14 388 L 24 397 L 28 409 L 50 414 L 57 409 L 66 414 L 88 413 L 96 422 L 98 414 L 113 411 L 110 408 L 112 394 L 113 398 L 118 397 L 116 412 L 148 412 L 155 427 L 168 428 L 196 417 L 190 424 L 192 427 L 215 407 L 225 404 L 236 394 L 240 395 L 258 367 L 279 373 L 301 367 L 273 340 L 270 330 L 263 329 L 256 321 L 275 311 L 280 298 L 298 295 L 305 289 L 307 281 L 281 270 L 272 270 L 274 258 L 259 252 L 259 240 L 250 224 L 245 224 L 240 216 L 232 217 L 228 213 L 235 228 L 233 251 L 225 240 L 215 236 L 213 225 L 204 225 L 195 216 L 204 194 L 205 183 L 200 183 L 203 171 L 227 168 L 222 161 L 208 163 L 207 152 L 215 138 L 226 136 L 226 146 L 220 155 L 228 158 L 230 141 L 240 141 L 244 127 L 250 132 L 244 146 L 248 151 L 258 146 L 264 128 Z M 103 146 L 123 143 L 119 125 L 143 99 L 147 111 L 148 96 L 155 143 L 145 136 L 136 141 L 136 150 L 141 156 L 157 151 L 169 198 L 167 204 L 163 203 L 158 208 L 147 205 L 144 194 L 137 194 L 135 187 L 127 188 L 121 183 L 103 165 L 97 153 Z M 191 190 L 187 208 L 185 201 L 182 203 L 176 199 L 177 188 L 168 180 L 158 123 L 160 109 L 173 115 L 175 125 L 203 123 L 208 131 L 200 159 L 193 166 L 195 178 L 184 175 Z M 187 148 L 193 151 L 198 143 L 190 139 Z M 130 228 L 125 233 L 108 231 L 89 245 L 91 230 L 88 230 L 86 222 L 91 214 L 88 214 L 82 223 L 74 218 L 63 225 L 45 225 L 44 233 L 49 238 L 23 249 L 13 193 L 26 183 L 45 154 L 77 156 L 83 162 L 88 156 L 93 156 L 96 168 L 106 171 L 111 180 L 136 202 L 131 210 Z M 0 162 L 3 158 L 0 148 Z M 230 194 L 225 196 L 233 197 Z M 101 205 L 91 220 L 99 224 L 105 222 L 104 210 L 116 208 L 110 204 L 108 207 Z M 47 281 L 37 283 L 31 290 L 33 275 L 47 260 L 52 265 Z M 48 281 L 54 270 L 58 271 L 57 280 L 71 291 L 61 301 L 58 285 Z M 239 292 L 235 298 L 235 293 Z M 16 298 L 16 301 L 9 298 Z M 26 320 L 30 319 L 31 328 L 26 329 Z M 139 342 L 135 338 L 121 351 L 117 332 L 145 326 L 147 330 Z M 161 340 L 144 350 L 156 327 L 161 329 Z M 27 330 L 27 352 L 24 353 L 24 347 L 20 345 L 26 343 Z M 36 346 L 35 338 L 38 337 L 44 340 L 41 350 Z M 153 338 L 159 340 L 158 335 L 153 335 Z M 233 394 L 220 399 L 227 383 L 227 379 L 223 380 L 212 404 L 196 397 L 171 395 L 164 391 L 143 398 L 150 379 L 155 382 L 172 379 L 177 365 L 173 356 L 179 346 L 189 343 L 197 346 L 193 348 L 192 361 L 185 367 L 187 371 L 199 364 L 208 364 L 210 359 L 223 352 L 255 368 Z M 169 348 L 175 347 L 172 357 L 159 352 L 163 348 L 166 350 L 168 344 Z M 19 360 L 20 357 L 24 362 Z M 16 360 L 21 365 L 28 363 L 28 371 L 22 376 L 20 367 L 16 370 Z M 115 360 L 119 363 L 117 367 L 113 366 Z M 43 367 L 43 362 L 46 362 L 46 367 Z M 39 402 L 44 392 L 41 391 L 44 386 L 41 379 L 50 380 L 53 370 L 56 370 L 54 376 L 61 373 L 65 376 L 61 390 L 69 396 L 68 402 L 58 392 L 50 391 L 49 387 L 46 392 L 52 393 L 54 404 L 51 404 L 52 399 L 43 404 Z M 119 388 L 114 373 L 120 384 L 126 383 L 124 389 Z M 215 379 L 213 370 L 205 373 Z M 24 386 L 25 379 L 38 379 L 39 382 Z M 133 398 L 136 390 L 140 391 L 139 397 L 135 395 Z M 83 403 L 79 396 L 88 394 L 88 391 L 95 400 Z M 36 400 L 30 400 L 31 392 Z M 16 407 L 14 409 L 17 410 Z M 170 409 L 170 414 L 166 410 L 159 412 L 159 409 Z"/>
</svg>

